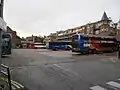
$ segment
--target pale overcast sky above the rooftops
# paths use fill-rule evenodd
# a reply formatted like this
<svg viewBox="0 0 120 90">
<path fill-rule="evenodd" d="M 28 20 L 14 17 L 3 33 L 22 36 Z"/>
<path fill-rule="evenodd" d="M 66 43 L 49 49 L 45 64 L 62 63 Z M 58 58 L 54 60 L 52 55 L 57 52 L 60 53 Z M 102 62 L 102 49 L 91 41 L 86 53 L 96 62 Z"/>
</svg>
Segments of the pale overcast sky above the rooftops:
<svg viewBox="0 0 120 90">
<path fill-rule="evenodd" d="M 120 0 L 5 0 L 4 19 L 22 37 L 48 35 L 100 20 L 120 18 Z"/>
</svg>

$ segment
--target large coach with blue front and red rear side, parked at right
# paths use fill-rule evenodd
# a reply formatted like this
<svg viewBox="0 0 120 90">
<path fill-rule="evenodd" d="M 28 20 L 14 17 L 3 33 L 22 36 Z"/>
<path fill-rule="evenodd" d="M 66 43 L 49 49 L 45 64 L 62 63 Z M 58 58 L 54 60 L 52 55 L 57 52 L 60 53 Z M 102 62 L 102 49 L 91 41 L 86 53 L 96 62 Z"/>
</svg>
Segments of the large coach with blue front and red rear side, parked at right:
<svg viewBox="0 0 120 90">
<path fill-rule="evenodd" d="M 112 36 L 75 34 L 72 37 L 72 47 L 73 52 L 81 54 L 116 51 L 117 41 Z"/>
</svg>

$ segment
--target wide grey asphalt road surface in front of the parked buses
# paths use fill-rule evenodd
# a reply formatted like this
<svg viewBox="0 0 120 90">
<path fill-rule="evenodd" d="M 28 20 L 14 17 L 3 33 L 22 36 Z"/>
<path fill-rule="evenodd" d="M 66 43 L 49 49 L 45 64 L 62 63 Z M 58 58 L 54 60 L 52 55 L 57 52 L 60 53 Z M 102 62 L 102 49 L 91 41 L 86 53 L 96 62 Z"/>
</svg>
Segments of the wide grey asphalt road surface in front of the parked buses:
<svg viewBox="0 0 120 90">
<path fill-rule="evenodd" d="M 76 55 L 70 51 L 14 49 L 3 57 L 12 79 L 28 90 L 120 90 L 115 53 Z"/>
</svg>

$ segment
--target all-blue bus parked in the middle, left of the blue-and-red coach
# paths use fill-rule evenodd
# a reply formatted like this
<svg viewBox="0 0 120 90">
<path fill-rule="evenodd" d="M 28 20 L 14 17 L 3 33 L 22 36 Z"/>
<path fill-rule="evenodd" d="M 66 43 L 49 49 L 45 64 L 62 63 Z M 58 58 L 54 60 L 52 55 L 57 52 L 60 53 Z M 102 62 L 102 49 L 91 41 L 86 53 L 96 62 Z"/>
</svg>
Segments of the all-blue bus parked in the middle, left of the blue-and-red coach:
<svg viewBox="0 0 120 90">
<path fill-rule="evenodd" d="M 46 48 L 51 50 L 71 50 L 72 42 L 69 41 L 50 41 L 46 42 Z"/>
</svg>

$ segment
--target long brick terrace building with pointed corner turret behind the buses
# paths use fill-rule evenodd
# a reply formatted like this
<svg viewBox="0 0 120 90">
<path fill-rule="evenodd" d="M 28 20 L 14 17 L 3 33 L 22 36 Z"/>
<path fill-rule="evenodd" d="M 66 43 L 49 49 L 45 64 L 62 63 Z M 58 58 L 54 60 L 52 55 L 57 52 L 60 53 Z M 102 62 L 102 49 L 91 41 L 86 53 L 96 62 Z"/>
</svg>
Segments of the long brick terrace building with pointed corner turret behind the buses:
<svg viewBox="0 0 120 90">
<path fill-rule="evenodd" d="M 115 30 L 115 25 L 112 22 L 110 18 L 108 18 L 107 14 L 104 12 L 101 20 L 93 23 L 87 23 L 86 25 L 82 25 L 79 27 L 71 28 L 65 31 L 57 31 L 54 33 L 55 37 L 53 39 L 53 36 L 50 37 L 49 40 L 71 40 L 72 35 L 74 34 L 88 34 L 88 35 L 102 35 L 102 36 L 108 36 L 108 35 L 116 35 L 117 30 Z"/>
</svg>

